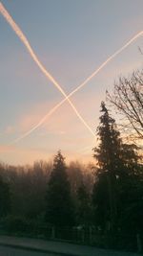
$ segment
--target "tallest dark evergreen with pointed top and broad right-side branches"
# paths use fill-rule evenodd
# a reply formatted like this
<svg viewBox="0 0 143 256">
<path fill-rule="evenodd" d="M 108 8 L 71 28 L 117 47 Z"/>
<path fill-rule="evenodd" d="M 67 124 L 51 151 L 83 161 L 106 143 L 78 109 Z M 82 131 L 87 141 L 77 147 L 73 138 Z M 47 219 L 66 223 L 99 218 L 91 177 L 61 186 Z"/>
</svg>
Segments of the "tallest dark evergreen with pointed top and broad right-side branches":
<svg viewBox="0 0 143 256">
<path fill-rule="evenodd" d="M 134 145 L 122 142 L 115 120 L 110 116 L 104 103 L 101 104 L 101 112 L 100 125 L 97 128 L 99 145 L 93 149 L 98 170 L 92 201 L 97 223 L 106 228 L 110 222 L 113 231 L 123 206 L 128 206 L 128 200 L 123 204 L 121 198 L 123 195 L 127 198 L 125 191 L 133 185 L 134 177 L 138 174 L 138 156 L 134 151 Z"/>
</svg>

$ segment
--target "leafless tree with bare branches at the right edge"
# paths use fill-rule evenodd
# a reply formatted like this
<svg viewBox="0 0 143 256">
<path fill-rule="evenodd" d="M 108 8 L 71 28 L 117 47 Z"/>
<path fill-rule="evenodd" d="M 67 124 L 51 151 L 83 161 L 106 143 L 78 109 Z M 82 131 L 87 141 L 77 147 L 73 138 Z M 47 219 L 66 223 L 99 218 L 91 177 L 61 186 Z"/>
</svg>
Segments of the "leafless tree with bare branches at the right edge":
<svg viewBox="0 0 143 256">
<path fill-rule="evenodd" d="M 120 78 L 107 98 L 123 116 L 123 128 L 143 139 L 143 70 L 133 72 L 129 79 Z"/>
</svg>

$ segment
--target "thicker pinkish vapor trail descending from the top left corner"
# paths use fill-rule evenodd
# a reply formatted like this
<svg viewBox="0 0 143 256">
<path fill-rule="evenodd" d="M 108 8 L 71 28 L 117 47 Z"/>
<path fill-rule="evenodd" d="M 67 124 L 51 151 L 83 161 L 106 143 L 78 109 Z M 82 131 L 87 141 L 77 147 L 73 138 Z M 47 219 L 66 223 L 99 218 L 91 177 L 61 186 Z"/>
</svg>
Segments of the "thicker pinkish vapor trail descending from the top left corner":
<svg viewBox="0 0 143 256">
<path fill-rule="evenodd" d="M 55 81 L 55 79 L 51 76 L 51 74 L 46 70 L 46 68 L 43 66 L 43 64 L 40 62 L 40 60 L 37 58 L 37 56 L 35 55 L 34 51 L 31 48 L 31 44 L 28 41 L 26 35 L 23 34 L 23 32 L 21 31 L 21 29 L 18 27 L 18 25 L 14 22 L 14 20 L 12 19 L 12 17 L 10 16 L 10 13 L 5 9 L 5 7 L 2 5 L 2 3 L 0 2 L 0 12 L 2 13 L 2 15 L 5 17 L 5 19 L 8 21 L 8 23 L 10 24 L 10 27 L 12 28 L 12 30 L 15 32 L 16 35 L 18 35 L 18 37 L 20 38 L 20 40 L 24 43 L 24 45 L 26 46 L 28 52 L 31 55 L 31 58 L 34 60 L 34 62 L 38 65 L 39 69 L 42 71 L 42 73 L 55 85 L 55 87 L 62 93 L 62 95 L 65 97 L 65 100 L 69 102 L 69 104 L 72 106 L 72 109 L 74 110 L 76 116 L 80 119 L 80 121 L 84 124 L 84 126 L 86 128 L 88 128 L 90 130 L 90 132 L 92 133 L 93 137 L 95 137 L 94 132 L 92 131 L 92 128 L 89 127 L 89 125 L 86 123 L 86 121 L 82 118 L 82 116 L 79 114 L 79 112 L 77 111 L 77 109 L 75 108 L 75 106 L 72 104 L 71 100 L 68 98 L 67 94 L 65 93 L 65 91 L 62 89 L 62 87 L 60 86 L 60 84 Z"/>
</svg>

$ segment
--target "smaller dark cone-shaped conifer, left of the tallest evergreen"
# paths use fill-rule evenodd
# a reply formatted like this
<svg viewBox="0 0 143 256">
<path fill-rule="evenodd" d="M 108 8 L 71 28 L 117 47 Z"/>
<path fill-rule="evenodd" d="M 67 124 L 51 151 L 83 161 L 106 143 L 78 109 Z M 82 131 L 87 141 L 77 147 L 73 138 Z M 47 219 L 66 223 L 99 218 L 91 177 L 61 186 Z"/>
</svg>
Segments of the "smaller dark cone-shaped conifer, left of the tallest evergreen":
<svg viewBox="0 0 143 256">
<path fill-rule="evenodd" d="M 73 224 L 71 187 L 64 157 L 60 151 L 54 156 L 46 200 L 46 221 L 53 226 L 71 226 Z"/>
</svg>

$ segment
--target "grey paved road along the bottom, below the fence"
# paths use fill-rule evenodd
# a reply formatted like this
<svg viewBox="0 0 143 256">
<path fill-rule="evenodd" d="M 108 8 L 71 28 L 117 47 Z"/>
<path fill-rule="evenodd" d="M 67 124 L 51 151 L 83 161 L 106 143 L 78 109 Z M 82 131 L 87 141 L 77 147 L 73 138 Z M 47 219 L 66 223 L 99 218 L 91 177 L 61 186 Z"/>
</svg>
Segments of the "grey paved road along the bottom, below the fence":
<svg viewBox="0 0 143 256">
<path fill-rule="evenodd" d="M 74 256 L 138 256 L 136 253 L 127 253 L 122 251 L 113 251 L 99 249 L 93 246 L 79 245 L 79 244 L 69 244 L 62 242 L 53 242 L 53 241 L 44 241 L 40 239 L 30 239 L 30 238 L 17 238 L 10 236 L 0 236 L 0 248 L 1 246 L 14 246 L 15 251 L 21 250 L 22 254 L 2 254 L 0 251 L 0 256 L 58 256 L 58 255 L 74 255 Z M 19 248 L 16 248 L 18 246 Z M 28 251 L 23 250 L 22 248 L 28 248 Z M 34 250 L 43 250 L 47 253 L 33 252 L 30 251 L 30 248 Z M 10 247 L 8 247 L 9 252 Z"/>
</svg>

